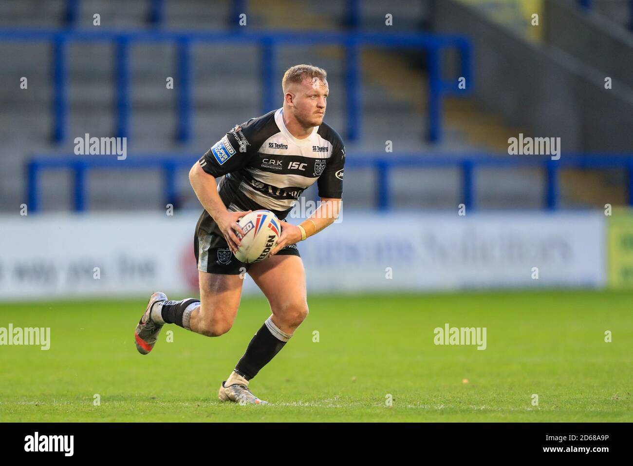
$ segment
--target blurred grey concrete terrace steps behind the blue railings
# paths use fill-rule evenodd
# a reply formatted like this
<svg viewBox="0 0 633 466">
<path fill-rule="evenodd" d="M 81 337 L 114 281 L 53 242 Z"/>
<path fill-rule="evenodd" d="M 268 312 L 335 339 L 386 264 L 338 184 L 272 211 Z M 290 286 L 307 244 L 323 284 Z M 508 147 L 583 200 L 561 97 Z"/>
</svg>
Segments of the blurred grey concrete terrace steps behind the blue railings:
<svg viewBox="0 0 633 466">
<path fill-rule="evenodd" d="M 5 0 L 0 3 L 0 18 L 14 25 L 20 18 L 28 25 L 56 27 L 63 17 L 63 1 L 41 2 Z M 390 1 L 387 6 L 378 0 L 362 2 L 362 28 L 384 32 L 410 30 L 425 22 L 428 12 L 424 3 Z M 229 22 L 230 1 L 203 0 L 166 1 L 166 27 L 216 30 L 232 27 Z M 92 14 L 101 15 L 104 28 L 147 28 L 147 2 L 124 0 L 84 0 L 79 27 L 92 28 Z M 393 15 L 394 25 L 386 27 L 384 16 Z M 248 27 L 283 27 L 283 29 L 333 30 L 345 20 L 344 3 L 257 1 L 248 10 Z M 4 23 L 0 22 L 0 27 Z M 11 24 L 9 24 L 11 25 Z M 35 152 L 72 153 L 73 139 L 84 136 L 112 136 L 115 126 L 115 70 L 111 44 L 72 44 L 68 49 L 68 140 L 60 145 L 49 142 L 51 131 L 50 54 L 47 44 L 7 44 L 0 42 L 4 65 L 0 69 L 0 210 L 13 211 L 23 202 L 25 161 Z M 256 46 L 210 46 L 196 44 L 192 48 L 194 115 L 192 141 L 180 145 L 174 141 L 177 124 L 177 61 L 175 48 L 168 44 L 141 44 L 130 49 L 130 135 L 128 152 L 185 151 L 204 153 L 235 124 L 261 114 L 261 82 L 258 72 L 260 51 Z M 326 121 L 345 137 L 346 101 L 344 87 L 344 55 L 337 47 L 284 47 L 279 49 L 275 86 L 279 105 L 282 103 L 280 81 L 289 66 L 313 63 L 327 69 L 330 98 Z M 460 152 L 472 148 L 498 149 L 502 136 L 517 129 L 508 127 L 494 115 L 486 115 L 468 100 L 446 100 L 445 141 L 429 146 L 426 130 L 425 75 L 411 67 L 410 57 L 380 49 L 361 53 L 363 87 L 362 139 L 348 142 L 347 152 L 384 153 L 385 141 L 392 141 L 394 153 Z M 28 90 L 19 89 L 21 76 L 28 77 Z M 171 76 L 176 89 L 166 89 L 165 79 Z M 507 140 L 507 136 L 505 137 Z M 384 153 L 385 157 L 390 156 Z M 108 157 L 108 156 L 103 156 Z M 123 163 L 123 162 L 122 162 Z M 370 207 L 375 198 L 376 179 L 371 170 L 351 170 L 346 177 L 346 205 Z M 182 184 L 182 203 L 197 206 L 187 186 L 186 171 Z M 442 170 L 396 170 L 391 176 L 394 203 L 398 207 L 448 208 L 460 200 L 460 172 Z M 496 207 L 505 205 L 538 205 L 542 174 L 517 172 L 500 181 L 498 172 L 481 172 L 477 185 L 482 189 L 478 202 Z M 541 181 L 539 181 L 541 180 Z M 89 203 L 94 209 L 160 209 L 163 181 L 158 171 L 99 172 L 89 176 Z M 113 189 L 116 186 L 116 189 Z M 54 172 L 42 178 L 42 207 L 46 210 L 72 208 L 68 193 L 72 177 L 68 172 Z M 518 188 L 518 189 L 517 189 Z M 310 191 L 310 193 L 313 191 Z M 503 205 L 501 205 L 503 207 Z"/>
</svg>

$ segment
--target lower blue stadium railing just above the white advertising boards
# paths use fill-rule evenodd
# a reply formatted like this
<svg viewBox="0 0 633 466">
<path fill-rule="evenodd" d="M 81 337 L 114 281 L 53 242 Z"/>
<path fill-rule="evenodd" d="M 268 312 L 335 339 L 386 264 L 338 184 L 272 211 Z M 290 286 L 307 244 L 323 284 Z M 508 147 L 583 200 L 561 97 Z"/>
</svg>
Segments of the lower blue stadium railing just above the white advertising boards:
<svg viewBox="0 0 633 466">
<path fill-rule="evenodd" d="M 97 156 L 101 158 L 86 159 L 85 157 L 59 155 L 36 155 L 27 165 L 27 200 L 30 212 L 40 209 L 41 188 L 40 175 L 42 171 L 66 169 L 73 172 L 73 202 L 74 210 L 84 212 L 87 205 L 87 177 L 89 170 L 147 170 L 161 169 L 163 172 L 163 200 L 165 204 L 177 205 L 177 170 L 188 169 L 199 154 L 130 154 L 125 160 L 116 160 L 116 156 Z M 111 157 L 106 159 L 104 157 Z M 375 207 L 379 210 L 392 208 L 391 185 L 389 174 L 398 168 L 459 168 L 461 169 L 460 199 L 469 210 L 475 209 L 475 171 L 478 168 L 495 167 L 499 169 L 540 168 L 545 173 L 545 189 L 543 193 L 543 207 L 556 210 L 559 207 L 560 188 L 559 171 L 561 169 L 624 169 L 629 176 L 629 205 L 633 206 L 633 154 L 563 154 L 559 160 L 535 155 L 508 156 L 490 155 L 487 153 L 469 153 L 456 155 L 420 155 L 401 154 L 385 157 L 384 153 L 364 154 L 354 156 L 348 154 L 345 162 L 348 178 L 353 176 L 354 169 L 370 168 L 377 174 L 378 186 L 375 195 Z"/>
</svg>

